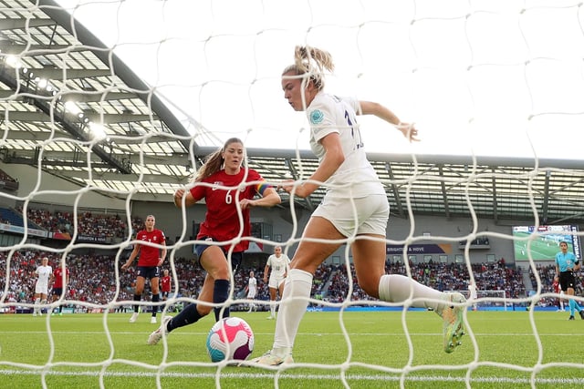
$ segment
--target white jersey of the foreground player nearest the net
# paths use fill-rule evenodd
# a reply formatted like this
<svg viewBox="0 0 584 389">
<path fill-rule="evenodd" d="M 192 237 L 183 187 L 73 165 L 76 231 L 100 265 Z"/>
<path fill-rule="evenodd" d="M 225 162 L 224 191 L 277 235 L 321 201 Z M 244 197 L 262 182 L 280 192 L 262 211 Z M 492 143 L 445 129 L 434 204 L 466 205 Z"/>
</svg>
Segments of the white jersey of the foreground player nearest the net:
<svg viewBox="0 0 584 389">
<path fill-rule="evenodd" d="M 385 195 L 375 169 L 363 148 L 356 112 L 359 101 L 351 97 L 336 97 L 319 92 L 307 108 L 310 122 L 310 148 L 318 159 L 325 155 L 320 139 L 338 133 L 345 161 L 327 180 L 327 196 L 336 198 L 363 198 L 374 194 Z M 339 187 L 334 188 L 334 185 Z M 333 186 L 333 187 L 331 187 Z"/>
</svg>

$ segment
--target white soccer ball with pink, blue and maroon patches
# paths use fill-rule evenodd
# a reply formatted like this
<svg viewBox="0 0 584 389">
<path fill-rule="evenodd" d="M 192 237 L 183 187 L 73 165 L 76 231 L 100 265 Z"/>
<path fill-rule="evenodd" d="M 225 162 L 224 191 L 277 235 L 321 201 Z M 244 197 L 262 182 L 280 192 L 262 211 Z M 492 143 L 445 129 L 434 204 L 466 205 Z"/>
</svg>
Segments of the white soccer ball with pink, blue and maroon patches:
<svg viewBox="0 0 584 389">
<path fill-rule="evenodd" d="M 207 353 L 212 362 L 244 361 L 254 351 L 254 333 L 244 319 L 225 317 L 207 335 Z"/>
</svg>

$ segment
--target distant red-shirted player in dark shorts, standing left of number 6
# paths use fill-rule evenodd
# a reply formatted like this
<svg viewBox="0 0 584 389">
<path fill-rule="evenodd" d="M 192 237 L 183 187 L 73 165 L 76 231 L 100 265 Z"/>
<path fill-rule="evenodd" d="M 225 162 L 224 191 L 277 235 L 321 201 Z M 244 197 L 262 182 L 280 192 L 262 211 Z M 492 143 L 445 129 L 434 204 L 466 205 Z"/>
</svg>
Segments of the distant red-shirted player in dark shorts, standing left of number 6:
<svg viewBox="0 0 584 389">
<path fill-rule="evenodd" d="M 166 238 L 164 232 L 154 228 L 156 219 L 148 215 L 145 221 L 145 229 L 138 232 L 136 241 L 144 243 L 134 244 L 134 250 L 131 251 L 128 261 L 121 266 L 122 270 L 130 268 L 131 263 L 138 257 L 138 276 L 136 278 L 136 289 L 134 290 L 134 302 L 140 302 L 142 292 L 144 292 L 144 283 L 146 279 L 150 280 L 152 302 L 160 302 L 159 282 L 161 276 L 162 262 L 166 258 Z M 138 319 L 139 305 L 134 304 L 134 313 L 130 317 L 130 322 L 136 322 Z M 157 306 L 152 306 L 151 323 L 156 323 Z"/>
</svg>

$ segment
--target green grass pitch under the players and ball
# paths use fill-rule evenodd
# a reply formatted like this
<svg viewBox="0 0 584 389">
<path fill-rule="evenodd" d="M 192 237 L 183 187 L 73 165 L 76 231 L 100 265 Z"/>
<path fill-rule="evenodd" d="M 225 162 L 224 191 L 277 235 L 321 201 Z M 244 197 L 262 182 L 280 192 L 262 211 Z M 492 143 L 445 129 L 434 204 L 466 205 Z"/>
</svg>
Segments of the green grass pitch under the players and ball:
<svg viewBox="0 0 584 389">
<path fill-rule="evenodd" d="M 266 312 L 232 315 L 254 329 L 253 356 L 270 348 L 276 322 L 266 320 Z M 467 335 L 452 354 L 443 352 L 442 322 L 433 312 L 407 312 L 405 322 L 401 312 L 307 312 L 294 353 L 299 364 L 280 370 L 210 363 L 204 346 L 210 316 L 172 332 L 168 347 L 146 344 L 156 328 L 148 314 L 134 324 L 129 317 L 0 315 L 0 386 L 551 389 L 584 384 L 584 321 L 568 322 L 563 312 L 468 312 Z"/>
</svg>

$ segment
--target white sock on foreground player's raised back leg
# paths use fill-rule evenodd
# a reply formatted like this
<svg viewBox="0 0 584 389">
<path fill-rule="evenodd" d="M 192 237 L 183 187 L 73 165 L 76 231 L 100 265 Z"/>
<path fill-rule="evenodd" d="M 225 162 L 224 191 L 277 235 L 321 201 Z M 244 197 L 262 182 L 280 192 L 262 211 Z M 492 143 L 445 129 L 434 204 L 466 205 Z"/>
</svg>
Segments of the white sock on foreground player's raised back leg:
<svg viewBox="0 0 584 389">
<path fill-rule="evenodd" d="M 412 307 L 432 308 L 438 314 L 443 311 L 445 305 L 440 302 L 443 300 L 443 292 L 399 274 L 381 276 L 379 291 L 380 300 L 384 302 L 405 302 L 412 293 L 412 299 L 424 299 L 412 302 Z M 431 301 L 431 299 L 436 301 Z"/>
</svg>

